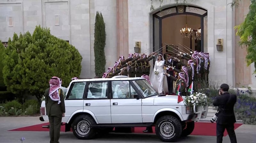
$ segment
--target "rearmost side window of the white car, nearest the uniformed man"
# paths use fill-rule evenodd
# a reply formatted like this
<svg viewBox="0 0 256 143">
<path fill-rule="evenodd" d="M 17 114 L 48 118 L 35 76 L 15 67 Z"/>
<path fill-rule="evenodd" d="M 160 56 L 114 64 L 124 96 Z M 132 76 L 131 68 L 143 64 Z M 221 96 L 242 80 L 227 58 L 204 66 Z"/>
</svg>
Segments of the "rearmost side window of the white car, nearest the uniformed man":
<svg viewBox="0 0 256 143">
<path fill-rule="evenodd" d="M 86 82 L 75 82 L 71 84 L 68 99 L 83 99 Z"/>
</svg>

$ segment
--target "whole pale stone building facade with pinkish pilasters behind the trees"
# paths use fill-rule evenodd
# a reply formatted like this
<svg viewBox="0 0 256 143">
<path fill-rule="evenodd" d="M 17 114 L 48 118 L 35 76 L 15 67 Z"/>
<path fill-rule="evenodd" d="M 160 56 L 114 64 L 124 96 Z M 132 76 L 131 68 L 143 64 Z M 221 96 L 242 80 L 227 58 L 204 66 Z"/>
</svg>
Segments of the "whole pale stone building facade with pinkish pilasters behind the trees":
<svg viewBox="0 0 256 143">
<path fill-rule="evenodd" d="M 241 49 L 234 26 L 243 22 L 248 13 L 248 1 L 241 1 L 234 10 L 232 0 L 187 0 L 187 6 L 204 9 L 204 52 L 210 53 L 210 80 L 233 86 L 256 87 L 253 66 L 246 67 L 246 51 Z M 150 10 L 151 5 L 154 10 Z M 97 11 L 106 23 L 105 54 L 107 67 L 119 56 L 134 52 L 136 41 L 141 52 L 156 50 L 154 15 L 164 9 L 182 5 L 164 0 L 160 6 L 152 0 L 0 0 L 0 39 L 7 42 L 13 33 L 33 32 L 36 25 L 49 27 L 51 33 L 74 45 L 83 57 L 80 78 L 94 76 L 94 22 Z M 206 34 L 207 33 L 207 34 Z M 217 51 L 217 39 L 223 39 L 223 51 Z M 159 42 L 159 41 L 158 41 Z M 163 41 L 161 41 L 163 43 Z M 161 45 L 162 46 L 162 45 Z M 160 48 L 160 47 L 158 47 Z"/>
</svg>

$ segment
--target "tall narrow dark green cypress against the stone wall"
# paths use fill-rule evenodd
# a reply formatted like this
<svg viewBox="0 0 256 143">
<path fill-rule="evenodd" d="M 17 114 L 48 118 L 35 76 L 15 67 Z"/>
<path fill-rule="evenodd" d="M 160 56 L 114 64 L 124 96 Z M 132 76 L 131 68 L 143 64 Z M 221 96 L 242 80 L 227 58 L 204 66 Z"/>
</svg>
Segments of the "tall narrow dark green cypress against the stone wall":
<svg viewBox="0 0 256 143">
<path fill-rule="evenodd" d="M 94 57 L 95 57 L 95 75 L 101 77 L 105 72 L 106 57 L 106 31 L 103 16 L 100 12 L 96 12 L 94 26 Z"/>
</svg>

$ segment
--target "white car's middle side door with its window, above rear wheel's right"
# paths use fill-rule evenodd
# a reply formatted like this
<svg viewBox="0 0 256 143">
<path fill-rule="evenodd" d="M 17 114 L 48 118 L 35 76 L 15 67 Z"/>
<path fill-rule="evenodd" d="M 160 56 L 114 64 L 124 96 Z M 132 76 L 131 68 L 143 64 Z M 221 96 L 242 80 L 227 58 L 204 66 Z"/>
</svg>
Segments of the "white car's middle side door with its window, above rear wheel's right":
<svg viewBox="0 0 256 143">
<path fill-rule="evenodd" d="M 99 123 L 111 123 L 108 81 L 88 82 L 84 100 L 84 112 L 91 111 Z"/>
</svg>

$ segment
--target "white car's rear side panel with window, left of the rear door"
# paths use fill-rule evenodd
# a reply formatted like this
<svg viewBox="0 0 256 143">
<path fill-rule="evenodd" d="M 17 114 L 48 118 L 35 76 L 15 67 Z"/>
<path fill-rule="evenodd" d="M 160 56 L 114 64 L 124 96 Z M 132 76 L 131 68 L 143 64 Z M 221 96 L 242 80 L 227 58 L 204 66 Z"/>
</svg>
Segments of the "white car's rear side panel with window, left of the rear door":
<svg viewBox="0 0 256 143">
<path fill-rule="evenodd" d="M 62 122 L 67 123 L 70 116 L 75 112 L 83 112 L 84 109 L 84 89 L 86 82 L 74 82 L 70 85 L 70 89 L 65 99 L 65 117 Z"/>
</svg>

